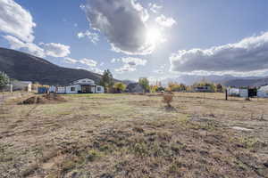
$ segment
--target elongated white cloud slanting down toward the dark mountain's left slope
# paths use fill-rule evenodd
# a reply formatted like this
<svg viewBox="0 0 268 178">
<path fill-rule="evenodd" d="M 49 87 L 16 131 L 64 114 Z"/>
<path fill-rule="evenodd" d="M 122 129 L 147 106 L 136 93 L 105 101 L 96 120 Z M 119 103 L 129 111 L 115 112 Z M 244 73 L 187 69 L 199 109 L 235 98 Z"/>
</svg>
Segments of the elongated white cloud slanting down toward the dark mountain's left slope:
<svg viewBox="0 0 268 178">
<path fill-rule="evenodd" d="M 11 48 L 13 50 L 25 50 L 28 53 L 31 53 L 32 55 L 36 55 L 40 58 L 43 58 L 46 56 L 44 50 L 40 48 L 37 44 L 33 43 L 25 43 L 22 42 L 20 39 L 18 39 L 15 36 L 3 36 L 4 39 L 8 41 Z"/>
</svg>

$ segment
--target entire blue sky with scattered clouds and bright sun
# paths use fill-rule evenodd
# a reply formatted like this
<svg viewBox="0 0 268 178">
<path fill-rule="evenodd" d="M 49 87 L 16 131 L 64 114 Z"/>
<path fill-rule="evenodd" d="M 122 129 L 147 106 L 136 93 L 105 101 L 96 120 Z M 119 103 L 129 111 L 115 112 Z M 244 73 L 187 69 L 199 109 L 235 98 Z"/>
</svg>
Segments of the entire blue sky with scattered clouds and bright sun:
<svg viewBox="0 0 268 178">
<path fill-rule="evenodd" d="M 118 79 L 268 76 L 267 0 L 0 0 L 0 46 Z"/>
</svg>

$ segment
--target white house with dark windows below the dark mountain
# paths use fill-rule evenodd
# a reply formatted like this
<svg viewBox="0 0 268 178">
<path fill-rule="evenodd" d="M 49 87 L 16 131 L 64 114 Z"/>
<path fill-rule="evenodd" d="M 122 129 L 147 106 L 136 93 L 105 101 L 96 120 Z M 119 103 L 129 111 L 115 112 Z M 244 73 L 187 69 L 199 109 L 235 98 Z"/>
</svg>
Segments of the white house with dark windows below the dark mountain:
<svg viewBox="0 0 268 178">
<path fill-rule="evenodd" d="M 57 93 L 76 94 L 76 93 L 105 93 L 105 88 L 101 85 L 96 85 L 91 79 L 84 78 L 70 85 L 57 87 Z"/>
</svg>

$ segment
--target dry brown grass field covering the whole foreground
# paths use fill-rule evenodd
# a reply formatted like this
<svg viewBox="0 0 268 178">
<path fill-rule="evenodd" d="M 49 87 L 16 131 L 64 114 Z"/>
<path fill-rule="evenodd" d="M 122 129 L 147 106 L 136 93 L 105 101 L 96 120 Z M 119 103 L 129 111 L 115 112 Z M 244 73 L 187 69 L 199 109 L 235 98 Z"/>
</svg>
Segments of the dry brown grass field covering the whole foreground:
<svg viewBox="0 0 268 178">
<path fill-rule="evenodd" d="M 23 97 L 26 97 L 25 95 Z M 63 95 L 0 109 L 0 177 L 268 177 L 268 100 Z"/>
</svg>

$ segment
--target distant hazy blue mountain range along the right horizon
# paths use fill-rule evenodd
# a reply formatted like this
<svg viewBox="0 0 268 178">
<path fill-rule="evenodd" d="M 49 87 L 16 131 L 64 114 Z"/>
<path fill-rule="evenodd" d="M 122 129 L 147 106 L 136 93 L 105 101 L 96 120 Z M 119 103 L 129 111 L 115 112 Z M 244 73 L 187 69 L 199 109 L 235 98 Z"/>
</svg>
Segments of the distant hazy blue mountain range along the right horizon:
<svg viewBox="0 0 268 178">
<path fill-rule="evenodd" d="M 211 75 L 211 76 L 198 76 L 198 75 L 181 75 L 180 77 L 167 78 L 162 81 L 163 85 L 169 82 L 183 83 L 185 85 L 193 85 L 194 83 L 202 80 L 219 83 L 226 86 L 260 86 L 268 84 L 268 77 L 234 77 L 231 75 Z"/>
</svg>

